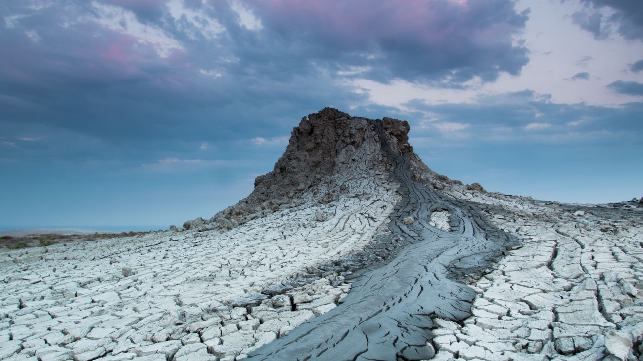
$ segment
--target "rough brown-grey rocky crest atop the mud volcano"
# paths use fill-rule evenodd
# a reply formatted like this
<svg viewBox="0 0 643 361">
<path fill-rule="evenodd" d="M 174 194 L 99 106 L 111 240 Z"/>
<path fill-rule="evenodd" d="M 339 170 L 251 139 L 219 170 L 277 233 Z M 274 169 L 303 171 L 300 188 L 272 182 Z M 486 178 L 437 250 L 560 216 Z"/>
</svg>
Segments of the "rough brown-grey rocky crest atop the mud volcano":
<svg viewBox="0 0 643 361">
<path fill-rule="evenodd" d="M 284 155 L 272 172 L 255 179 L 255 189 L 248 197 L 210 220 L 197 218 L 185 222 L 183 227 L 235 227 L 284 207 L 299 206 L 305 202 L 303 195 L 320 185 L 331 188 L 327 197 L 332 198 L 334 185 L 340 188 L 338 179 L 345 181 L 388 174 L 392 164 L 382 150 L 376 122 L 381 122 L 388 146 L 409 161 L 417 179 L 439 179 L 440 176 L 431 172 L 409 145 L 410 127 L 406 121 L 388 117 L 368 119 L 325 108 L 303 117 L 298 127 L 294 127 Z"/>
</svg>

